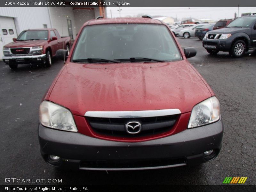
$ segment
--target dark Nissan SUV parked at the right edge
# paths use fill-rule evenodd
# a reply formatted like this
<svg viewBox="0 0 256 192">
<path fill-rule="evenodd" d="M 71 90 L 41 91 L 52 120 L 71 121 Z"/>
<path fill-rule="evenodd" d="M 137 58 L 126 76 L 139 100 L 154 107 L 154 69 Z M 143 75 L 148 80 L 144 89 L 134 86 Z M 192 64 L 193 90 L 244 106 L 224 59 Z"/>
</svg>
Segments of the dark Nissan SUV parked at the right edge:
<svg viewBox="0 0 256 192">
<path fill-rule="evenodd" d="M 242 57 L 249 49 L 256 49 L 256 14 L 240 17 L 225 28 L 209 31 L 203 39 L 203 46 L 210 54 L 229 52 Z"/>
</svg>

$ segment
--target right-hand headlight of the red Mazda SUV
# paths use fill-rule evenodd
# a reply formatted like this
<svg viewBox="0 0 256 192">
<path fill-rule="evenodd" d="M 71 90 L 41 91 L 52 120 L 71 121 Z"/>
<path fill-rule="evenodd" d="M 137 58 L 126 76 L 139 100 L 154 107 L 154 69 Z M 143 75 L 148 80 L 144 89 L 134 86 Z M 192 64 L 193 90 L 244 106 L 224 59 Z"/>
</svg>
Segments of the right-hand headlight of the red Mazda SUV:
<svg viewBox="0 0 256 192">
<path fill-rule="evenodd" d="M 220 102 L 216 97 L 194 106 L 188 123 L 188 128 L 198 127 L 209 124 L 220 119 Z"/>
</svg>

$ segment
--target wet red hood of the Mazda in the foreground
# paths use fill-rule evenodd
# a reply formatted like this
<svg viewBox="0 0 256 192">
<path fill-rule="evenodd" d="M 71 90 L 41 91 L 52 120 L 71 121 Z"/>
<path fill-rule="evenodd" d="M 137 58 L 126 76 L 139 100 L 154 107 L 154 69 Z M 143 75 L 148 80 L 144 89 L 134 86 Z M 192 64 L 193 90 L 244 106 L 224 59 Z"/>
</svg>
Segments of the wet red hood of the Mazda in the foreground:
<svg viewBox="0 0 256 192">
<path fill-rule="evenodd" d="M 47 98 L 84 116 L 86 111 L 178 108 L 189 112 L 212 96 L 186 60 L 166 63 L 68 63 Z"/>
</svg>

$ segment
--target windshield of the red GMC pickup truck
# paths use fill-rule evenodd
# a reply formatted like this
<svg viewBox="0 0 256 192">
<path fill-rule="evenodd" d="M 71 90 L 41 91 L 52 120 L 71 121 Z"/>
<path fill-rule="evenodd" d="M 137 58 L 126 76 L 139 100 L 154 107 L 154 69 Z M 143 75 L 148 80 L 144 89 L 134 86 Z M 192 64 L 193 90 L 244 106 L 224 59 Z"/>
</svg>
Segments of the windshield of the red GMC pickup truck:
<svg viewBox="0 0 256 192">
<path fill-rule="evenodd" d="M 17 41 L 25 40 L 47 40 L 48 30 L 23 31 L 17 38 Z"/>
</svg>

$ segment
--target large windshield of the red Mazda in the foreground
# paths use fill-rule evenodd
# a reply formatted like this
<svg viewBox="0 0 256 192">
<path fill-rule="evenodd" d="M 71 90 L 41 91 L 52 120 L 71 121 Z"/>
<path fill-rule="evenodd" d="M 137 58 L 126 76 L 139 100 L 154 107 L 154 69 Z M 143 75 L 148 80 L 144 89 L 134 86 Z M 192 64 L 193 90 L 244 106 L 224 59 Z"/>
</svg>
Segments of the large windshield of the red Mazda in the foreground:
<svg viewBox="0 0 256 192">
<path fill-rule="evenodd" d="M 181 60 L 170 31 L 156 24 L 104 24 L 84 27 L 72 60 L 127 58 Z"/>
</svg>

